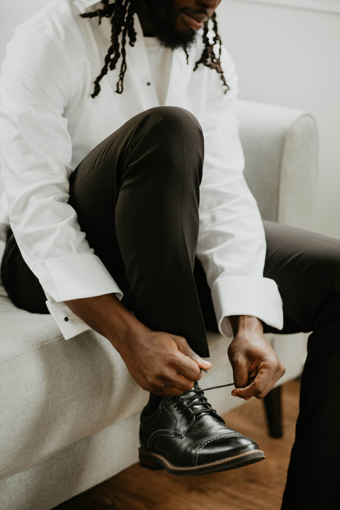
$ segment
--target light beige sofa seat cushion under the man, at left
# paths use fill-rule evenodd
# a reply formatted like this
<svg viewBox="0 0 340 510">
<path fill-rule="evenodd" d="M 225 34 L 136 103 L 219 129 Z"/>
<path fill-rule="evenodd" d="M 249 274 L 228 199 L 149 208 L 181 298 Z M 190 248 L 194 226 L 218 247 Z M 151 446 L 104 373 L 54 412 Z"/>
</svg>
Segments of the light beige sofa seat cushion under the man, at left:
<svg viewBox="0 0 340 510">
<path fill-rule="evenodd" d="M 0 288 L 0 478 L 136 413 L 147 393 L 92 330 L 64 340 L 50 315 Z"/>
</svg>

